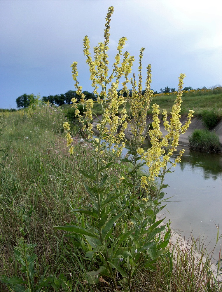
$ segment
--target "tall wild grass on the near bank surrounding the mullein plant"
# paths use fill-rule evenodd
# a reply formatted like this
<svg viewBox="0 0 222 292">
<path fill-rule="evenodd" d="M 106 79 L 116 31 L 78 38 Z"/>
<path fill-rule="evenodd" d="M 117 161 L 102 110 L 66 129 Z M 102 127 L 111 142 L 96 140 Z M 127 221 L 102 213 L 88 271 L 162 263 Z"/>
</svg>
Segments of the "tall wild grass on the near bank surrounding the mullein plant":
<svg viewBox="0 0 222 292">
<path fill-rule="evenodd" d="M 86 178 L 78 171 L 80 164 L 93 167 L 90 145 L 76 136 L 76 154 L 68 154 L 62 129 L 65 117 L 58 108 L 44 106 L 5 114 L 7 126 L 0 143 L 11 141 L 11 146 L 0 166 L 0 275 L 20 275 L 13 247 L 21 236 L 18 211 L 22 205 L 27 211 L 25 240 L 37 244 L 38 277 L 49 265 L 47 275 L 63 273 L 69 280 L 68 288 L 59 291 L 111 291 L 105 282 L 94 287 L 85 281 L 85 271 L 94 268 L 93 261 L 85 259 L 72 237 L 53 227 L 78 222 L 69 211 L 90 204 L 83 185 Z M 119 175 L 125 175 L 125 166 L 117 163 L 110 173 L 113 185 Z M 197 264 L 192 253 L 188 256 L 188 247 L 184 250 L 178 244 L 173 249 L 177 253 L 171 249 L 155 271 L 138 269 L 136 291 L 219 291 L 207 268 L 209 258 L 202 266 L 202 258 Z M 201 252 L 204 254 L 204 249 Z M 9 290 L 0 283 L 0 291 Z"/>
</svg>

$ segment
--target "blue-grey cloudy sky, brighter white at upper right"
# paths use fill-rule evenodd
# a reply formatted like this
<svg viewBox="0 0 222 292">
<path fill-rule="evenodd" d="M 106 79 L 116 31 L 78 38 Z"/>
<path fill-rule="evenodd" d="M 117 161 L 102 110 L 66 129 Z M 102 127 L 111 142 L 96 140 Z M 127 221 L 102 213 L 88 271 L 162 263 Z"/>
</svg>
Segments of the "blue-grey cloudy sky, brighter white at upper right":
<svg viewBox="0 0 222 292">
<path fill-rule="evenodd" d="M 88 35 L 93 54 L 104 40 L 111 5 L 110 63 L 125 36 L 136 75 L 145 48 L 143 80 L 151 64 L 154 91 L 176 88 L 180 73 L 186 74 L 184 86 L 194 89 L 222 85 L 221 0 L 0 0 L 0 108 L 16 108 L 24 93 L 75 90 L 74 61 L 79 85 L 93 92 L 83 38 Z"/>
</svg>

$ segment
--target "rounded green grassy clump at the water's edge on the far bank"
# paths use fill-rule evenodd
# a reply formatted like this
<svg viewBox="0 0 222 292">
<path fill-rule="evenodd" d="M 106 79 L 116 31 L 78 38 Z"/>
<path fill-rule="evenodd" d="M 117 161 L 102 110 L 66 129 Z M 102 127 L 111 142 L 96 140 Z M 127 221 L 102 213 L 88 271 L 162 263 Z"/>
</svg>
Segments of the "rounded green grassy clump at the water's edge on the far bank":
<svg viewBox="0 0 222 292">
<path fill-rule="evenodd" d="M 219 136 L 209 130 L 195 130 L 189 136 L 190 148 L 200 152 L 218 153 L 221 151 Z"/>
</svg>

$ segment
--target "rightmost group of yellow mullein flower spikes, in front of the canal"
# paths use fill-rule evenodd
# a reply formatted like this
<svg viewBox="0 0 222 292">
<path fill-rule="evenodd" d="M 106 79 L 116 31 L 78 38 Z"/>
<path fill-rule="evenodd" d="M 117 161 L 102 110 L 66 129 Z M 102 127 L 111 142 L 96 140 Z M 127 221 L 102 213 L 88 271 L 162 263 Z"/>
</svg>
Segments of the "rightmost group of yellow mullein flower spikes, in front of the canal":
<svg viewBox="0 0 222 292">
<path fill-rule="evenodd" d="M 160 131 L 160 119 L 158 115 L 160 114 L 159 106 L 154 104 L 152 106 L 153 113 L 153 129 L 149 130 L 149 136 L 151 140 L 152 147 L 150 147 L 146 152 L 141 149 L 137 150 L 138 154 L 142 155 L 142 158 L 146 161 L 146 165 L 149 167 L 148 181 L 151 182 L 159 175 L 161 169 L 166 170 L 167 162 L 170 161 L 170 157 L 173 152 L 176 151 L 179 145 L 179 136 L 181 133 L 185 133 L 187 130 L 191 118 L 193 117 L 193 111 L 190 110 L 186 123 L 182 126 L 180 122 L 180 111 L 181 111 L 181 96 L 183 88 L 183 78 L 184 74 L 180 74 L 179 77 L 179 89 L 177 93 L 176 100 L 172 107 L 170 122 L 167 120 L 167 111 L 163 110 L 163 121 L 165 130 L 167 134 L 162 137 L 162 132 Z M 181 161 L 184 150 L 181 150 L 178 157 L 175 159 L 172 166 L 176 166 L 176 163 Z"/>
</svg>

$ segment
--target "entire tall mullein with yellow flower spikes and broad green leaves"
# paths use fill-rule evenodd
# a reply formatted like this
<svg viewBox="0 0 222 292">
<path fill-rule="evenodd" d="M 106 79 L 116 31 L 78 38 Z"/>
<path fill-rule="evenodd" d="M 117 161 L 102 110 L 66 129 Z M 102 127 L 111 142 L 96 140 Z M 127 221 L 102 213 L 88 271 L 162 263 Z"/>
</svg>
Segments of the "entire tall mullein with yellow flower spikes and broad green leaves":
<svg viewBox="0 0 222 292">
<path fill-rule="evenodd" d="M 163 208 L 160 206 L 164 195 L 162 189 L 166 171 L 175 166 L 181 159 L 183 151 L 176 160 L 170 157 L 178 146 L 180 133 L 188 128 L 193 111 L 188 115 L 188 121 L 181 126 L 179 121 L 181 96 L 184 74 L 179 78 L 179 90 L 173 105 L 170 123 L 167 120 L 167 112 L 163 111 L 164 125 L 168 134 L 162 137 L 160 120 L 158 118 L 158 105 L 154 104 L 153 129 L 149 130 L 152 147 L 143 149 L 144 131 L 146 129 L 147 110 L 150 108 L 153 91 L 150 88 L 151 66 L 147 67 L 146 90 L 142 95 L 141 60 L 144 48 L 139 56 L 139 83 L 138 90 L 135 75 L 129 79 L 134 57 L 123 47 L 126 38 L 122 37 L 118 42 L 117 54 L 113 67 L 109 70 L 108 44 L 109 24 L 113 7 L 109 7 L 106 16 L 104 42 L 94 48 L 94 58 L 90 55 L 88 36 L 84 38 L 84 54 L 89 65 L 90 79 L 94 93 L 98 96 L 97 102 L 102 108 L 102 117 L 97 117 L 93 112 L 93 100 L 86 100 L 82 93 L 82 87 L 77 81 L 77 62 L 72 67 L 72 76 L 75 81 L 77 94 L 81 95 L 80 103 L 85 107 L 84 116 L 80 115 L 75 98 L 72 99 L 75 113 L 82 123 L 83 129 L 88 134 L 88 142 L 92 145 L 93 163 L 95 171 L 81 168 L 80 172 L 91 180 L 85 184 L 85 190 L 89 195 L 89 208 L 72 209 L 71 212 L 79 213 L 81 224 L 57 226 L 56 228 L 73 233 L 76 241 L 86 252 L 86 257 L 95 265 L 97 271 L 86 272 L 86 278 L 90 284 L 105 282 L 109 286 L 120 285 L 126 291 L 134 290 L 134 279 L 138 267 L 141 265 L 149 270 L 155 270 L 154 263 L 166 254 L 166 246 L 170 239 L 169 223 L 161 225 L 163 220 L 157 220 L 157 213 Z M 120 96 L 117 94 L 119 82 L 122 82 Z M 127 84 L 132 85 L 132 97 L 129 97 Z M 126 102 L 130 103 L 131 119 L 127 121 Z M 121 109 L 120 109 L 121 107 Z M 98 138 L 94 137 L 92 122 L 96 117 Z M 86 124 L 84 123 L 86 119 Z M 125 130 L 131 124 L 130 150 L 127 157 L 122 159 L 131 165 L 128 175 L 118 178 L 115 187 L 110 183 L 109 169 L 116 163 L 116 157 L 120 157 L 125 147 Z M 67 147 L 69 153 L 75 154 L 72 146 L 70 125 L 63 124 L 66 131 Z M 117 129 L 120 128 L 120 131 Z M 111 148 L 112 147 L 112 148 Z M 167 168 L 167 164 L 170 166 Z M 147 175 L 139 175 L 139 168 L 146 164 Z M 156 196 L 151 196 L 154 180 L 161 177 L 160 186 L 155 190 Z M 122 186 L 122 187 L 120 187 Z M 81 226 L 80 226 L 81 225 Z M 75 234 L 75 235 L 74 235 Z M 109 281 L 108 279 L 111 279 Z"/>
</svg>

